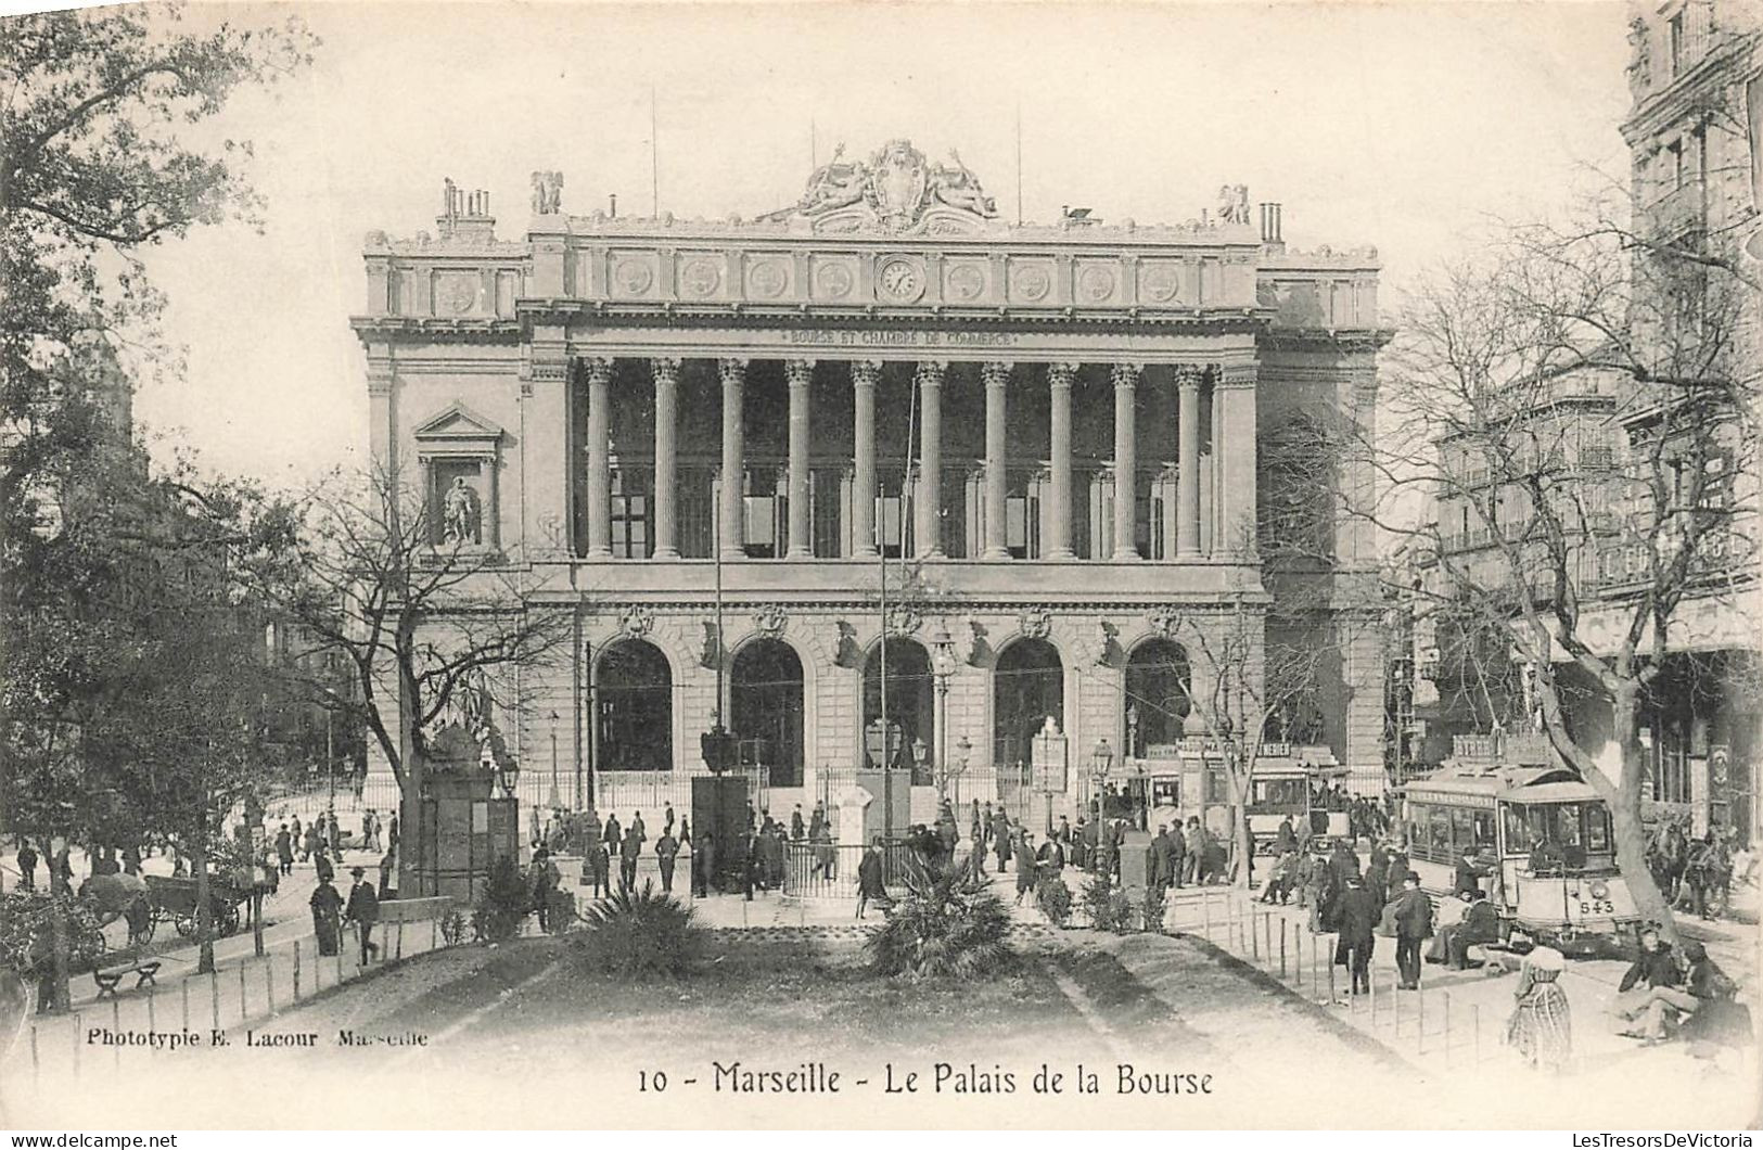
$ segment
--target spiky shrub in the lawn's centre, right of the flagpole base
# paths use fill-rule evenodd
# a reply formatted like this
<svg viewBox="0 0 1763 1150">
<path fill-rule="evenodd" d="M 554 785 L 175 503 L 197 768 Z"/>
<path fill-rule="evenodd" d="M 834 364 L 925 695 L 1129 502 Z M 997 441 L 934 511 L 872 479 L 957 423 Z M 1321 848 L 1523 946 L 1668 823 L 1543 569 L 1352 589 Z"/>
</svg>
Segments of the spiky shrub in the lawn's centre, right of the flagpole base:
<svg viewBox="0 0 1763 1150">
<path fill-rule="evenodd" d="M 911 861 L 904 898 L 869 937 L 869 968 L 913 977 L 987 974 L 1010 958 L 1008 926 L 1003 900 L 973 868 Z"/>
</svg>

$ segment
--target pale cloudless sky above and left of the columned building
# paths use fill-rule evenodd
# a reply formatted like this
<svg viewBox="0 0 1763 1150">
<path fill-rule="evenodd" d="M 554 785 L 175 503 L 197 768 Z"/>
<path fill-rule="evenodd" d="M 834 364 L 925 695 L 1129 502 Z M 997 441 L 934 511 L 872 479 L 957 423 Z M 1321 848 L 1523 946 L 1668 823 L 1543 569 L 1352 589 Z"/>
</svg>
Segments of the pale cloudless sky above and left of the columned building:
<svg viewBox="0 0 1763 1150">
<path fill-rule="evenodd" d="M 1285 205 L 1292 247 L 1375 245 L 1387 303 L 1469 254 L 1490 217 L 1546 213 L 1625 164 L 1613 0 L 192 16 L 289 12 L 323 39 L 314 65 L 203 129 L 254 143 L 263 231 L 208 228 L 152 252 L 185 370 L 136 397 L 143 425 L 206 467 L 272 485 L 361 464 L 361 236 L 434 231 L 446 176 L 488 189 L 499 236 L 518 238 L 534 169 L 564 173 L 566 212 L 615 192 L 621 215 L 647 213 L 654 175 L 663 212 L 753 217 L 793 201 L 836 143 L 866 157 L 904 136 L 931 159 L 959 150 L 1014 215 L 1021 116 L 1024 219 L 1082 205 L 1179 222 L 1246 183 Z"/>
</svg>

